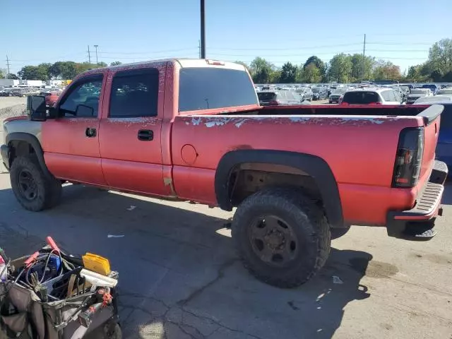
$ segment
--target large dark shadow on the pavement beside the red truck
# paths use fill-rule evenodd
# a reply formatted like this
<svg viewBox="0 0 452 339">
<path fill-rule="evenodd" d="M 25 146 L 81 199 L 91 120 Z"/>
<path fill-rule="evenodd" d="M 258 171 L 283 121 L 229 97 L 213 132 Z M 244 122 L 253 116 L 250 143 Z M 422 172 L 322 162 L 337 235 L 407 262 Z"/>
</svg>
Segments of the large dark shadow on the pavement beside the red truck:
<svg viewBox="0 0 452 339">
<path fill-rule="evenodd" d="M 107 256 L 119 271 L 124 338 L 331 338 L 345 306 L 370 296 L 360 283 L 372 259 L 366 252 L 332 248 L 316 277 L 280 290 L 238 261 L 227 213 L 171 205 L 67 186 L 60 206 L 31 213 L 5 189 L 0 246 L 19 256 L 52 235 L 71 253 Z"/>
</svg>

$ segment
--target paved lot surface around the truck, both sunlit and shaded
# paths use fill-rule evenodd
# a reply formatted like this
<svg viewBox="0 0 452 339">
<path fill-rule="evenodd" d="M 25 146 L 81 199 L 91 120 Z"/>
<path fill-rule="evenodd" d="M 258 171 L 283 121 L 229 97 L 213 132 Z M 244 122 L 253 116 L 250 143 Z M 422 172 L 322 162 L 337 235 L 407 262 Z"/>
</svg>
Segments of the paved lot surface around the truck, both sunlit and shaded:
<svg viewBox="0 0 452 339">
<path fill-rule="evenodd" d="M 431 241 L 352 227 L 316 277 L 280 290 L 237 260 L 232 213 L 73 185 L 60 206 L 32 213 L 1 172 L 0 246 L 17 257 L 52 235 L 72 253 L 107 256 L 120 273 L 125 338 L 450 339 L 452 186 L 443 202 Z"/>
</svg>

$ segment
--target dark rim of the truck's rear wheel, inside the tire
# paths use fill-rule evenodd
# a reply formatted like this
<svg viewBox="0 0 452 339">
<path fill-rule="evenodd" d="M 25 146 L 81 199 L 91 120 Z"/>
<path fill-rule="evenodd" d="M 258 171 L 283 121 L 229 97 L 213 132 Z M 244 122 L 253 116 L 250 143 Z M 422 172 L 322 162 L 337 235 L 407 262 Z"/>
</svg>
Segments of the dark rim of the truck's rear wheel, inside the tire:
<svg viewBox="0 0 452 339">
<path fill-rule="evenodd" d="M 275 215 L 256 218 L 249 227 L 249 241 L 254 254 L 272 266 L 285 266 L 299 251 L 292 227 Z"/>
</svg>

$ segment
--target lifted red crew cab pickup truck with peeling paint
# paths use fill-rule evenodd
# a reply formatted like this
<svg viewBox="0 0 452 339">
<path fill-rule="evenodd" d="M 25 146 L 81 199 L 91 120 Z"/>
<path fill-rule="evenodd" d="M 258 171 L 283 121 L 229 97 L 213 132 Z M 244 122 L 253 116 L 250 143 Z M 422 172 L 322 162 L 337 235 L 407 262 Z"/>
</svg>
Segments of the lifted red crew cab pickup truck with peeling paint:
<svg viewBox="0 0 452 339">
<path fill-rule="evenodd" d="M 246 69 L 222 61 L 120 65 L 77 76 L 51 109 L 30 97 L 28 119 L 4 123 L 1 155 L 28 210 L 56 206 L 61 182 L 237 207 L 232 238 L 246 268 L 295 287 L 350 225 L 434 234 L 443 107 L 367 107 L 260 107 Z"/>
</svg>

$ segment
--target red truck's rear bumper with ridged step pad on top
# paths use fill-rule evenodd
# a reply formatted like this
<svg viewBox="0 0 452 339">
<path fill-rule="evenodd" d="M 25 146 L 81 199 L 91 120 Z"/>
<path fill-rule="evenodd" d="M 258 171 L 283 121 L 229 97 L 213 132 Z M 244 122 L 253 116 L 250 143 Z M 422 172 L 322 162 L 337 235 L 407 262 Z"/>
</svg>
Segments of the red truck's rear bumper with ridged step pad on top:
<svg viewBox="0 0 452 339">
<path fill-rule="evenodd" d="M 417 196 L 415 207 L 410 210 L 390 211 L 386 216 L 388 236 L 403 237 L 412 225 L 434 223 L 436 216 L 442 215 L 441 198 L 444 193 L 444 182 L 448 174 L 444 162 L 435 161 L 429 182 Z"/>
</svg>

